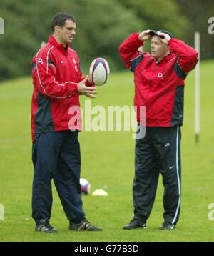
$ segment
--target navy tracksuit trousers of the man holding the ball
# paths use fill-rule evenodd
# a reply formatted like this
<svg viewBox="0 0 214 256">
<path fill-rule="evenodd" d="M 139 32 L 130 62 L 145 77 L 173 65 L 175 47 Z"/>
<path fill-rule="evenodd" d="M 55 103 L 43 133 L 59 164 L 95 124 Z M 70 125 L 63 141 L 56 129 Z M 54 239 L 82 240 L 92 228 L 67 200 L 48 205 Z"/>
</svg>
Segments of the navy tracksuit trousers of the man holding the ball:
<svg viewBox="0 0 214 256">
<path fill-rule="evenodd" d="M 49 220 L 52 207 L 51 180 L 54 179 L 63 210 L 71 222 L 84 220 L 82 210 L 81 154 L 78 132 L 45 132 L 33 144 L 34 182 L 32 217 Z"/>
</svg>

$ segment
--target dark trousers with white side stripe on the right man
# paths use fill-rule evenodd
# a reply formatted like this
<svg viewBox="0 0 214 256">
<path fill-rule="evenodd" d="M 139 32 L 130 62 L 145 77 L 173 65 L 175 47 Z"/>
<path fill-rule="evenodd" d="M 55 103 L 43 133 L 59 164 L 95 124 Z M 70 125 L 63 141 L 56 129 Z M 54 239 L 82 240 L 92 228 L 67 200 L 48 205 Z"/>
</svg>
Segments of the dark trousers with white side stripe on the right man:
<svg viewBox="0 0 214 256">
<path fill-rule="evenodd" d="M 135 167 L 134 217 L 143 222 L 148 219 L 161 173 L 163 217 L 176 225 L 180 214 L 180 127 L 146 127 L 146 136 L 136 139 Z"/>
</svg>

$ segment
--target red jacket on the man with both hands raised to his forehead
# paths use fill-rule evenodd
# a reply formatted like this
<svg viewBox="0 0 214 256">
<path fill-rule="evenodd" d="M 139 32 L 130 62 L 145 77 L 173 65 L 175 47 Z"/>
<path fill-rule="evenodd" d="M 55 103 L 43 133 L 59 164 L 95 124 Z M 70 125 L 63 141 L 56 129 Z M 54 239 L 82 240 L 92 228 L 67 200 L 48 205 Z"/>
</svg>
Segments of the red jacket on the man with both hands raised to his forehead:
<svg viewBox="0 0 214 256">
<path fill-rule="evenodd" d="M 157 63 L 150 54 L 138 51 L 142 45 L 138 34 L 132 34 L 119 47 L 126 67 L 134 72 L 137 120 L 139 107 L 146 106 L 146 126 L 182 125 L 184 80 L 197 64 L 198 53 L 183 41 L 170 39 L 170 54 Z"/>
</svg>

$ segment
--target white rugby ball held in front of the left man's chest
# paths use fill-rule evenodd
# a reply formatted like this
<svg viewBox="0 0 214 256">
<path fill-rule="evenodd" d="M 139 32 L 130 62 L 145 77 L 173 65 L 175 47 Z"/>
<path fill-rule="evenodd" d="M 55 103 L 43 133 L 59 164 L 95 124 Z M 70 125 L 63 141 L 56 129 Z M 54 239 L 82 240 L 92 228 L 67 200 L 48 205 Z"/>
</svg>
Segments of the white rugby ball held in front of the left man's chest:
<svg viewBox="0 0 214 256">
<path fill-rule="evenodd" d="M 108 80 L 110 69 L 108 62 L 103 58 L 96 58 L 91 62 L 89 77 L 96 85 L 103 85 Z"/>
</svg>

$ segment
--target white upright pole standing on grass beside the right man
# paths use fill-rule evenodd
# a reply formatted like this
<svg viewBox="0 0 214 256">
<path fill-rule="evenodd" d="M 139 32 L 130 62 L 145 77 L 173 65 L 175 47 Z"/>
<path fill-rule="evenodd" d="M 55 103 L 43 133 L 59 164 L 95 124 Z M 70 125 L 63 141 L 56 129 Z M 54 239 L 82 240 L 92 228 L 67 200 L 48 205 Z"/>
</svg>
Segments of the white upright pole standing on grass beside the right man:
<svg viewBox="0 0 214 256">
<path fill-rule="evenodd" d="M 195 32 L 195 50 L 198 51 L 198 64 L 195 67 L 195 142 L 200 134 L 200 33 Z"/>
</svg>

